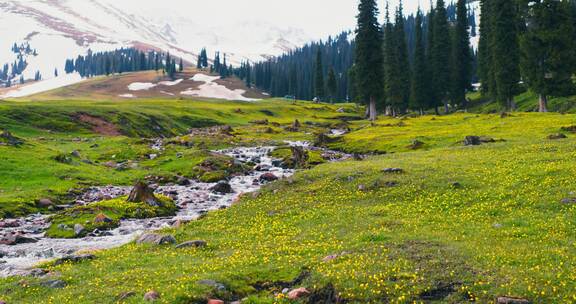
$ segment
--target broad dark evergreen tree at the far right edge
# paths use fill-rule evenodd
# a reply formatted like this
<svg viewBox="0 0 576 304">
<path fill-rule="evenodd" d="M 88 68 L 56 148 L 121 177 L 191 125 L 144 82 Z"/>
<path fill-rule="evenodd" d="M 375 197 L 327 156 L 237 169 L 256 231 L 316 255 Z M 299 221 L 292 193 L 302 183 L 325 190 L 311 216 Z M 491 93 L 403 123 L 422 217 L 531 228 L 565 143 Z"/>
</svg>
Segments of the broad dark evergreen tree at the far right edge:
<svg viewBox="0 0 576 304">
<path fill-rule="evenodd" d="M 548 96 L 574 93 L 576 32 L 568 1 L 535 1 L 528 9 L 527 30 L 520 39 L 521 71 L 528 87 L 539 95 L 540 112 L 548 111 Z"/>
</svg>

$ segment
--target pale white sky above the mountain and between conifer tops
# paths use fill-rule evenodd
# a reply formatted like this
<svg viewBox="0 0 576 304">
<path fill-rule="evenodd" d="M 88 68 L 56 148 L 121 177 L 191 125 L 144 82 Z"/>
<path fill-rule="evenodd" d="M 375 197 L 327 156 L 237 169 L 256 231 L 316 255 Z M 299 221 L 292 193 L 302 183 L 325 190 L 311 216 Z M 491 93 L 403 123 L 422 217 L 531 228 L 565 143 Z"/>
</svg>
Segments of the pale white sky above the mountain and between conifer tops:
<svg viewBox="0 0 576 304">
<path fill-rule="evenodd" d="M 76 0 L 75 0 L 76 1 Z M 195 23 L 267 22 L 279 28 L 303 29 L 311 38 L 320 39 L 356 25 L 358 0 L 104 0 L 126 10 L 141 10 L 154 17 L 155 13 L 174 10 L 180 18 L 183 13 Z M 404 0 L 407 13 L 415 12 L 422 1 L 428 9 L 430 0 Z M 434 0 L 435 1 L 435 0 Z M 399 0 L 390 0 L 390 7 Z M 383 18 L 385 0 L 378 0 Z M 162 13 L 162 15 L 164 15 Z"/>
</svg>

